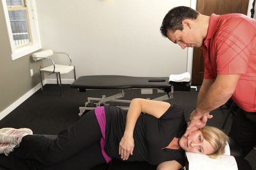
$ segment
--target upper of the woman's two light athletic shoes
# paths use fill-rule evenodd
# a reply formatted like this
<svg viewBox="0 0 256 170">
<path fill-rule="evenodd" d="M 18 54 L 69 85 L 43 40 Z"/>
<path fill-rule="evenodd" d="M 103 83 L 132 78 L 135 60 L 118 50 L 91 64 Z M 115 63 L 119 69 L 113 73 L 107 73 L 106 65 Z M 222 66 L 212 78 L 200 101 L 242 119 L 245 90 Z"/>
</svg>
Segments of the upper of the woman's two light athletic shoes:
<svg viewBox="0 0 256 170">
<path fill-rule="evenodd" d="M 26 135 L 33 135 L 32 130 L 28 128 L 2 128 L 0 129 L 0 143 L 20 145 L 22 137 Z"/>
</svg>

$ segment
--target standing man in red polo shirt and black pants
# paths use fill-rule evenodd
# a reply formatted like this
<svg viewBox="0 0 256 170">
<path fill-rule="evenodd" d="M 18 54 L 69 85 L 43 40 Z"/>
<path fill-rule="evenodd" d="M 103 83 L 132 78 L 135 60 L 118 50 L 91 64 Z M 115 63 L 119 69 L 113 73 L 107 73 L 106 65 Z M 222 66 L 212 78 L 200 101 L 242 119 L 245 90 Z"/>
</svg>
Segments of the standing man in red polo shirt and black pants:
<svg viewBox="0 0 256 170">
<path fill-rule="evenodd" d="M 229 136 L 243 157 L 256 145 L 256 20 L 242 14 L 204 16 L 179 6 L 163 19 L 161 34 L 203 49 L 204 79 L 185 135 L 205 126 L 210 111 L 232 98 L 239 106 Z"/>
</svg>

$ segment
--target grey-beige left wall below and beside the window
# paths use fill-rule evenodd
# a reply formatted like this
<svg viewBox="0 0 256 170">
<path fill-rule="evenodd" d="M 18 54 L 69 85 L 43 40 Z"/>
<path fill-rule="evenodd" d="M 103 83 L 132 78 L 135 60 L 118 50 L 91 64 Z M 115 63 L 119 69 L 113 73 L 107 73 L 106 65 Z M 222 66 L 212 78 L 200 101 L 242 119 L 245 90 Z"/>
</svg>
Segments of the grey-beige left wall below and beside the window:
<svg viewBox="0 0 256 170">
<path fill-rule="evenodd" d="M 31 61 L 30 55 L 12 61 L 2 3 L 0 3 L 0 112 L 40 83 L 40 62 Z M 31 77 L 30 69 L 34 76 Z"/>
</svg>

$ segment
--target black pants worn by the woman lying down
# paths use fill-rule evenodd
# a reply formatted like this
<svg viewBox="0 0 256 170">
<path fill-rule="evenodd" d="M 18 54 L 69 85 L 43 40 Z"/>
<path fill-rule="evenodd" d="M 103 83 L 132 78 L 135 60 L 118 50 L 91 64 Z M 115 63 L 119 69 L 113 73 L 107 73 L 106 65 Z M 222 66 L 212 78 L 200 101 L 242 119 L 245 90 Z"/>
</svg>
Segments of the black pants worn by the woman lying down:
<svg viewBox="0 0 256 170">
<path fill-rule="evenodd" d="M 99 144 L 101 136 L 92 110 L 61 131 L 55 140 L 44 136 L 24 136 L 10 156 L 13 160 L 25 160 L 32 170 L 89 170 L 106 162 Z"/>
</svg>

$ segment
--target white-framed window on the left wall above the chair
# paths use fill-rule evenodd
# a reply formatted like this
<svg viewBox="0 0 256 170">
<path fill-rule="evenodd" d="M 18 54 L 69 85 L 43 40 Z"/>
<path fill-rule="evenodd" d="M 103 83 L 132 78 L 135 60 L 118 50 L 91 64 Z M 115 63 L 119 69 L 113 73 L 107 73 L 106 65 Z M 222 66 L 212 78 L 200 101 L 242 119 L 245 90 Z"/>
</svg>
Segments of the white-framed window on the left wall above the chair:
<svg viewBox="0 0 256 170">
<path fill-rule="evenodd" d="M 2 0 L 12 59 L 41 48 L 35 0 Z"/>
</svg>

